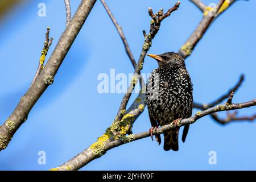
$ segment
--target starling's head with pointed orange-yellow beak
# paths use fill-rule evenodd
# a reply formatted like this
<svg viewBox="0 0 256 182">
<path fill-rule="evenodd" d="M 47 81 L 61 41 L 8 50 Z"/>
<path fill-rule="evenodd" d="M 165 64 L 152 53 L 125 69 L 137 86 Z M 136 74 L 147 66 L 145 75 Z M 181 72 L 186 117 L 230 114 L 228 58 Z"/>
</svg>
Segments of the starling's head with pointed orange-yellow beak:
<svg viewBox="0 0 256 182">
<path fill-rule="evenodd" d="M 176 68 L 184 68 L 185 63 L 182 56 L 178 55 L 175 52 L 165 52 L 160 55 L 147 55 L 153 57 L 156 61 L 158 61 L 159 67 L 176 67 Z"/>
</svg>

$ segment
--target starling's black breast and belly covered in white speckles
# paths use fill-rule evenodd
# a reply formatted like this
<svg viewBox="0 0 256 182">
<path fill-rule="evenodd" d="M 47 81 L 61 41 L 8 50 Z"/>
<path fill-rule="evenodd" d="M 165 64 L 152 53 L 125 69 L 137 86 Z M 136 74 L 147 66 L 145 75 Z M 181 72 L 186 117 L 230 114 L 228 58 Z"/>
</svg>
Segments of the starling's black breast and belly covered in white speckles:
<svg viewBox="0 0 256 182">
<path fill-rule="evenodd" d="M 192 83 L 183 68 L 156 69 L 147 82 L 148 111 L 161 125 L 191 112 Z"/>
</svg>

